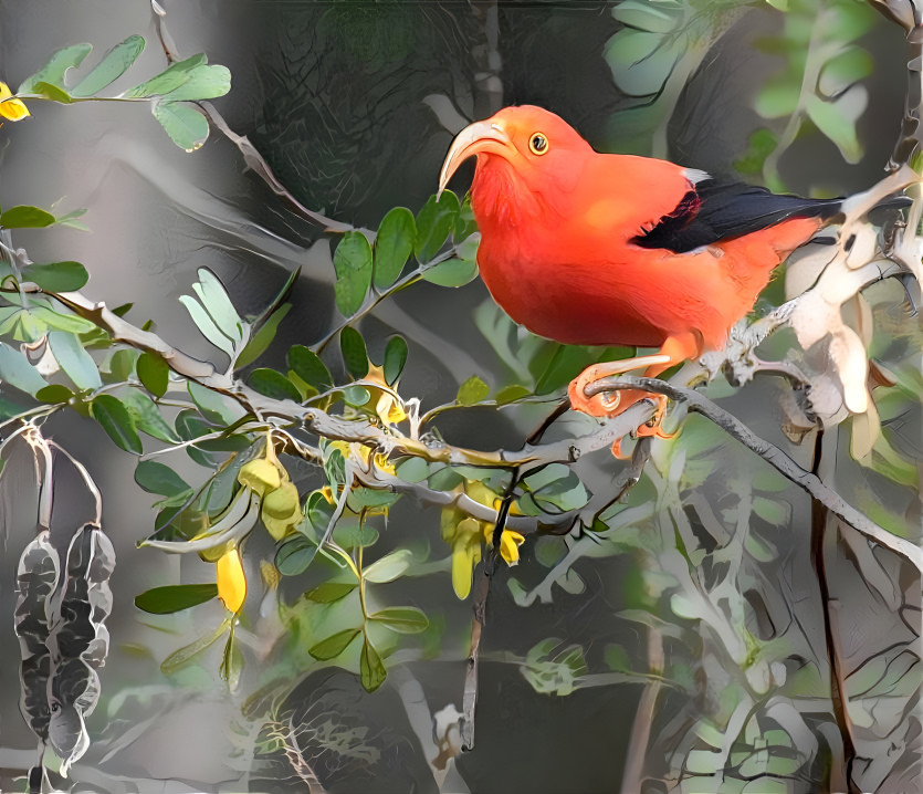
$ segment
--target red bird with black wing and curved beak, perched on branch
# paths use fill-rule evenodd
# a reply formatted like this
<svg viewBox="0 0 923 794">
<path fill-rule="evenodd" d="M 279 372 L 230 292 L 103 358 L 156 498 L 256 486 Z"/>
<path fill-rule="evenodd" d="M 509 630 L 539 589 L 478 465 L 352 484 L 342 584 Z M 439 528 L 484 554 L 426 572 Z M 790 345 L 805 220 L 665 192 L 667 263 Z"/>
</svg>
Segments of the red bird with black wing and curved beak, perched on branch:
<svg viewBox="0 0 923 794">
<path fill-rule="evenodd" d="M 841 203 L 599 154 L 564 119 L 529 105 L 459 133 L 440 191 L 472 156 L 478 264 L 500 306 L 557 342 L 659 348 L 595 365 L 570 384 L 571 406 L 592 416 L 613 416 L 644 396 L 588 399 L 584 388 L 598 378 L 640 367 L 654 377 L 721 349 L 773 270 Z"/>
</svg>

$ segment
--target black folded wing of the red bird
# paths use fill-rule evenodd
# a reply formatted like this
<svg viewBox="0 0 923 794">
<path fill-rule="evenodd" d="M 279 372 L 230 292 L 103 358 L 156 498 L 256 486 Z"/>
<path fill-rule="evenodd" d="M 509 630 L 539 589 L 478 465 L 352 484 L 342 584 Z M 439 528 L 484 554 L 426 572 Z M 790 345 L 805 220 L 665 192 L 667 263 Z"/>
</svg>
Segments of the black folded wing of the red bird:
<svg viewBox="0 0 923 794">
<path fill-rule="evenodd" d="M 685 253 L 721 240 L 742 237 L 789 218 L 830 218 L 841 199 L 779 196 L 766 188 L 704 179 L 683 197 L 670 215 L 631 239 L 642 248 Z"/>
</svg>

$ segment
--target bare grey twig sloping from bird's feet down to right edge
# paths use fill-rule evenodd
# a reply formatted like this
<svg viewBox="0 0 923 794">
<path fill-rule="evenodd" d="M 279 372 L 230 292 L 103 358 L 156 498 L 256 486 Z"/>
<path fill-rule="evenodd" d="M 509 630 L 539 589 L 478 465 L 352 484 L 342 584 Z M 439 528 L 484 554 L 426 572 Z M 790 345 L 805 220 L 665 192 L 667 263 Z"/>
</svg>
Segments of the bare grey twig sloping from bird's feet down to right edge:
<svg viewBox="0 0 923 794">
<path fill-rule="evenodd" d="M 867 515 L 851 506 L 838 493 L 827 488 L 820 479 L 811 472 L 803 469 L 788 455 L 774 443 L 759 438 L 746 425 L 724 408 L 721 408 L 707 397 L 692 389 L 674 386 L 665 380 L 655 378 L 631 377 L 621 375 L 618 378 L 601 378 L 590 384 L 587 389 L 587 397 L 617 389 L 640 389 L 667 395 L 672 400 L 684 403 L 689 410 L 701 414 L 706 419 L 717 425 L 728 436 L 735 438 L 745 447 L 756 452 L 767 463 L 774 467 L 786 479 L 800 487 L 811 498 L 824 504 L 840 521 L 852 526 L 857 532 L 866 535 L 885 549 L 904 557 L 913 564 L 917 571 L 923 573 L 923 550 L 903 537 L 898 537 L 888 530 L 875 524 Z"/>
</svg>

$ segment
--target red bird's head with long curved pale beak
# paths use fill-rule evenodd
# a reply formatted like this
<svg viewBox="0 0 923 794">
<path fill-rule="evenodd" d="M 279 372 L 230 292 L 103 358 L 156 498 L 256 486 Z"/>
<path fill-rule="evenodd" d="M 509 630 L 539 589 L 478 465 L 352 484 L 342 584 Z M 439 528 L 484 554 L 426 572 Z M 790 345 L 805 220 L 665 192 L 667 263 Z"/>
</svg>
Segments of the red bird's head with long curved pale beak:
<svg viewBox="0 0 923 794">
<path fill-rule="evenodd" d="M 476 157 L 475 215 L 479 203 L 490 212 L 503 199 L 504 205 L 520 203 L 527 197 L 548 201 L 573 187 L 581 158 L 591 153 L 589 144 L 560 116 L 534 105 L 504 107 L 455 136 L 439 175 L 439 192 L 464 160 Z M 479 191 L 484 199 L 481 202 Z"/>
</svg>

